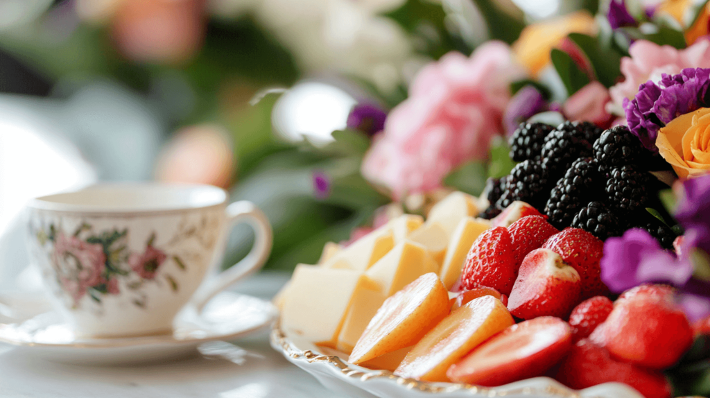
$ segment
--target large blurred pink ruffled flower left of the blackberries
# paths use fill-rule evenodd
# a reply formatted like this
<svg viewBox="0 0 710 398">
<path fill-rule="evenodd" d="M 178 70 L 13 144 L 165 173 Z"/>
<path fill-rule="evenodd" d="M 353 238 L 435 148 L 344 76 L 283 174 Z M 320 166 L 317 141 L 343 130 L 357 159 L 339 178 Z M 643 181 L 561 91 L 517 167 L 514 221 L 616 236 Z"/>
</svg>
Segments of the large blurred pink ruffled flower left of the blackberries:
<svg viewBox="0 0 710 398">
<path fill-rule="evenodd" d="M 495 41 L 471 57 L 449 52 L 425 66 L 409 98 L 388 115 L 363 175 L 397 199 L 440 187 L 454 168 L 486 158 L 491 138 L 503 131 L 510 82 L 524 76 L 508 45 Z"/>
</svg>

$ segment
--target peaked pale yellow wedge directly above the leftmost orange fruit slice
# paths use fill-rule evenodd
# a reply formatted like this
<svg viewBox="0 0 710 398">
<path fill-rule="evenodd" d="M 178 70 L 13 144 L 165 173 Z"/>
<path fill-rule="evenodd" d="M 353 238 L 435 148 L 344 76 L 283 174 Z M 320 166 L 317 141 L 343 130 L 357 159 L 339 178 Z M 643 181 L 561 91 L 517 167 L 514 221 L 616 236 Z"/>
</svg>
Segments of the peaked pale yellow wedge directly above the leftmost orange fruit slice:
<svg viewBox="0 0 710 398">
<path fill-rule="evenodd" d="M 380 285 L 385 297 L 390 297 L 427 272 L 437 272 L 438 268 L 424 245 L 404 241 L 370 267 L 365 275 Z"/>
</svg>

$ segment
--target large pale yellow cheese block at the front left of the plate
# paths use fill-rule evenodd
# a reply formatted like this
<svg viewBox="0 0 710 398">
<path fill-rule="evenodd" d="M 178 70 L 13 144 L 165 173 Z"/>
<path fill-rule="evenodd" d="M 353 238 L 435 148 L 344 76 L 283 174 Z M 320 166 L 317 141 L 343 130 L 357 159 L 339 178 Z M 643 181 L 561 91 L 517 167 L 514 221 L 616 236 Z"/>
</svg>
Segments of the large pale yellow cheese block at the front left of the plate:
<svg viewBox="0 0 710 398">
<path fill-rule="evenodd" d="M 283 299 L 281 326 L 324 346 L 335 347 L 344 317 L 364 290 L 380 285 L 357 270 L 297 265 Z"/>
</svg>

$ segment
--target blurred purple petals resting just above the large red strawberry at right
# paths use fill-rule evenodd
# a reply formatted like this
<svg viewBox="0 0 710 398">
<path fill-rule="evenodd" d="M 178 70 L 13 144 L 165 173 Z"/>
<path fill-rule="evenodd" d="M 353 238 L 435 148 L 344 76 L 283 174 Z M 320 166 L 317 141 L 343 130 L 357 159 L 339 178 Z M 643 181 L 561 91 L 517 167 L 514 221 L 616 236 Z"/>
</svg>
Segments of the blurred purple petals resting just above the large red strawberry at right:
<svg viewBox="0 0 710 398">
<path fill-rule="evenodd" d="M 670 282 L 682 286 L 693 273 L 688 259 L 663 250 L 643 229 L 630 229 L 621 238 L 608 238 L 601 258 L 601 280 L 612 292 L 645 282 Z"/>
</svg>

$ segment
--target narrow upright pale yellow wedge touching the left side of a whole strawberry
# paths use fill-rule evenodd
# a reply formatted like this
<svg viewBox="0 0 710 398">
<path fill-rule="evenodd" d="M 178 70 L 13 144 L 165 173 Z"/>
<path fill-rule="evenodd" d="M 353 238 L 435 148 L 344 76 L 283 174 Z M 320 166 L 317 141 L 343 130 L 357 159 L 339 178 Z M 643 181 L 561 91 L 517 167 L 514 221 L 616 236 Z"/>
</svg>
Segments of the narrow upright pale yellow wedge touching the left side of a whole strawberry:
<svg viewBox="0 0 710 398">
<path fill-rule="evenodd" d="M 491 226 L 487 220 L 474 219 L 473 217 L 466 217 L 459 222 L 449 241 L 444 265 L 439 272 L 439 277 L 447 289 L 450 290 L 459 279 L 471 245 L 488 228 Z"/>
</svg>

